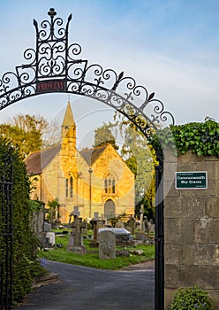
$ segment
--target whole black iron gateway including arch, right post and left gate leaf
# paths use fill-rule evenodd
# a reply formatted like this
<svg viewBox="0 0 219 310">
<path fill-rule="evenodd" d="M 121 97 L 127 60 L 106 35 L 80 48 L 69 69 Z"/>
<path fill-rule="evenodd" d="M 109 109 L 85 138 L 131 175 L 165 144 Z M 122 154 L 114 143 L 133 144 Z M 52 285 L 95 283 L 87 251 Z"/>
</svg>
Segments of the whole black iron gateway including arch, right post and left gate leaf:
<svg viewBox="0 0 219 310">
<path fill-rule="evenodd" d="M 164 110 L 162 101 L 155 98 L 155 92 L 148 93 L 144 86 L 112 69 L 103 69 L 98 64 L 89 64 L 79 57 L 81 46 L 69 44 L 69 25 L 72 14 L 63 27 L 63 19 L 51 8 L 50 20 L 43 20 L 41 27 L 34 19 L 36 45 L 24 52 L 26 64 L 16 66 L 15 72 L 3 74 L 0 80 L 0 110 L 19 100 L 46 93 L 72 93 L 90 97 L 109 105 L 125 115 L 128 120 L 148 139 L 174 117 Z M 155 251 L 155 310 L 163 309 L 163 192 L 162 160 L 156 170 L 156 251 Z M 11 305 L 11 262 L 12 262 L 12 166 L 8 158 L 7 174 L 2 174 L 0 229 L 1 251 L 1 309 Z M 4 253 L 4 254 L 3 254 Z M 5 306 L 4 306 L 5 303 Z"/>
</svg>

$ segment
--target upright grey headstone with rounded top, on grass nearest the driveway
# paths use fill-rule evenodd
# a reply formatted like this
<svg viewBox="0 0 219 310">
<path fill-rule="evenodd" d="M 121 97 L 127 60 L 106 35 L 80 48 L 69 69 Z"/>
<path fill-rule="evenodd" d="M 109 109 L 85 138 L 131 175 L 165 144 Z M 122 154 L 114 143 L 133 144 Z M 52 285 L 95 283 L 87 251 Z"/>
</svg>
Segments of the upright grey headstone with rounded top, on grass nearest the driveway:
<svg viewBox="0 0 219 310">
<path fill-rule="evenodd" d="M 99 259 L 116 259 L 116 235 L 110 230 L 103 230 L 99 233 Z"/>
</svg>

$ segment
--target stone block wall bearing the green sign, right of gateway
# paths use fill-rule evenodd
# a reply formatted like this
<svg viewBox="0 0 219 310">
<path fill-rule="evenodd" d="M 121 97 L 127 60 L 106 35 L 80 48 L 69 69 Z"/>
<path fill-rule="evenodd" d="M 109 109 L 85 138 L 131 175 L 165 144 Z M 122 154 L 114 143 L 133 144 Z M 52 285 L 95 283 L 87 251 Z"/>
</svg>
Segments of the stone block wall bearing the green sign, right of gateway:
<svg viewBox="0 0 219 310">
<path fill-rule="evenodd" d="M 176 171 L 207 171 L 208 189 L 176 190 Z M 219 159 L 166 153 L 164 264 L 165 308 L 177 288 L 198 285 L 219 309 Z"/>
</svg>

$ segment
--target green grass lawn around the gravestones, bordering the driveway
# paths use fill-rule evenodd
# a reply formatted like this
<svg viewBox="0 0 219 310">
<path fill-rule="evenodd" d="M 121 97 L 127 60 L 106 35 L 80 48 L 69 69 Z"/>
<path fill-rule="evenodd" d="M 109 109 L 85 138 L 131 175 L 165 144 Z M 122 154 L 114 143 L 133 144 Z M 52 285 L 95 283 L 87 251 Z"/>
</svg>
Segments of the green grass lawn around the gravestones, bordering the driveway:
<svg viewBox="0 0 219 310">
<path fill-rule="evenodd" d="M 73 265 L 94 267 L 98 269 L 119 269 L 132 264 L 137 264 L 146 260 L 155 259 L 155 245 L 138 245 L 136 247 L 117 247 L 117 250 L 129 250 L 129 257 L 117 257 L 115 260 L 99 260 L 99 249 L 90 248 L 89 239 L 84 239 L 84 246 L 87 248 L 87 254 L 81 255 L 66 251 L 69 235 L 56 236 L 56 244 L 62 244 L 61 248 L 51 249 L 48 252 L 39 251 L 38 257 L 46 260 L 56 260 Z M 132 251 L 143 250 L 141 255 L 134 255 Z"/>
</svg>

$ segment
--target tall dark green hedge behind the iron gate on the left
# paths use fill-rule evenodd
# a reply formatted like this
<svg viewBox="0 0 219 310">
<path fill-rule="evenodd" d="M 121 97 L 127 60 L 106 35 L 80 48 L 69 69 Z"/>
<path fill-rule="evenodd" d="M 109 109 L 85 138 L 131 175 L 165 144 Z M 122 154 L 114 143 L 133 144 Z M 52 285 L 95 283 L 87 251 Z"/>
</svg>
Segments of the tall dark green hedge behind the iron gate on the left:
<svg viewBox="0 0 219 310">
<path fill-rule="evenodd" d="M 19 157 L 19 151 L 12 149 L 11 144 L 0 138 L 0 171 L 4 174 L 5 154 L 9 153 L 13 165 L 13 300 L 22 300 L 31 289 L 33 270 L 36 266 L 37 239 L 30 229 L 29 219 L 31 209 L 29 202 L 29 181 L 26 175 L 26 166 Z M 1 175 L 2 177 L 2 175 Z M 1 205 L 2 207 L 2 205 Z M 0 212 L 0 232 L 4 231 L 4 223 Z M 1 234 L 0 233 L 0 234 Z M 1 240 L 0 250 L 3 247 Z M 0 251 L 1 252 L 1 251 Z M 2 255 L 0 256 L 0 259 Z"/>
</svg>

